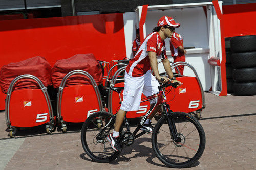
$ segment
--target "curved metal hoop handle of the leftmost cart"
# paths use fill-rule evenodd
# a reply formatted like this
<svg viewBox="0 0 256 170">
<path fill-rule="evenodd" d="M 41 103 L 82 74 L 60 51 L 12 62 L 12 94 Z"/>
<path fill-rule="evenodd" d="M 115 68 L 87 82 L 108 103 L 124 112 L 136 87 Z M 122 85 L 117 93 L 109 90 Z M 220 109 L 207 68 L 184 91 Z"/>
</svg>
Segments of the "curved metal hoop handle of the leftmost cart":
<svg viewBox="0 0 256 170">
<path fill-rule="evenodd" d="M 10 117 L 9 117 L 10 107 L 9 106 L 10 106 L 11 93 L 12 93 L 14 84 L 20 79 L 33 79 L 38 83 L 40 89 L 42 90 L 42 93 L 44 93 L 44 96 L 45 96 L 45 99 L 46 99 L 46 102 L 47 102 L 49 115 L 50 115 L 50 120 L 54 121 L 53 111 L 52 111 L 52 104 L 51 104 L 51 101 L 50 101 L 49 94 L 47 92 L 47 88 L 44 86 L 44 84 L 42 84 L 41 80 L 39 80 L 37 77 L 35 77 L 33 75 L 26 74 L 26 75 L 20 75 L 20 76 L 16 77 L 15 79 L 13 79 L 9 88 L 8 88 L 7 95 L 6 95 L 6 104 L 5 104 L 5 108 L 6 108 L 5 115 L 6 115 L 6 124 L 7 124 L 7 126 L 9 127 L 9 125 L 10 125 Z"/>
</svg>

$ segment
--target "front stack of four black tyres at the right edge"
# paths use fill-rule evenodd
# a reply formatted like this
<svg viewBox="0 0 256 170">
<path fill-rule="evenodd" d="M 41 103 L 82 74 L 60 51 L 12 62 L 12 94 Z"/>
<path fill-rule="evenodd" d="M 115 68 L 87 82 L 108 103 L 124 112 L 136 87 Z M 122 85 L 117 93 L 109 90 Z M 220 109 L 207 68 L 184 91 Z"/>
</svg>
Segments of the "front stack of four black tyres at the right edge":
<svg viewBox="0 0 256 170">
<path fill-rule="evenodd" d="M 256 95 L 256 35 L 230 38 L 233 92 Z"/>
</svg>

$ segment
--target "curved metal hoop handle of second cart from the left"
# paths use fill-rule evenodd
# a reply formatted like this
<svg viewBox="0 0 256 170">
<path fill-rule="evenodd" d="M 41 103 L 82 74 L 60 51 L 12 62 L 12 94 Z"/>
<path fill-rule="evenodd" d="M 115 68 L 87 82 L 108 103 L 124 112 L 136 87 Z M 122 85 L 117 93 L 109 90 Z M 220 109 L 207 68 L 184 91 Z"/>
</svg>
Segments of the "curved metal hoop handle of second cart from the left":
<svg viewBox="0 0 256 170">
<path fill-rule="evenodd" d="M 100 92 L 99 92 L 99 89 L 98 89 L 98 86 L 95 82 L 95 80 L 93 79 L 93 77 L 86 71 L 83 71 L 83 70 L 74 70 L 74 71 L 70 71 L 61 81 L 60 83 L 60 86 L 59 86 L 59 90 L 58 90 L 58 95 L 57 95 L 57 102 L 59 103 L 59 106 L 57 107 L 57 114 L 58 114 L 58 120 L 60 121 L 60 117 L 61 117 L 61 101 L 60 99 L 62 99 L 62 94 L 63 94 L 63 89 L 66 85 L 66 82 L 67 82 L 67 79 L 72 76 L 72 75 L 76 75 L 76 74 L 81 74 L 81 75 L 84 75 L 84 76 L 87 76 L 92 85 L 93 85 L 93 88 L 96 92 L 96 95 L 97 95 L 97 99 L 98 99 L 98 103 L 99 103 L 99 110 L 102 111 L 103 110 L 103 105 L 102 105 L 102 100 L 101 100 L 101 95 L 100 95 Z"/>
</svg>

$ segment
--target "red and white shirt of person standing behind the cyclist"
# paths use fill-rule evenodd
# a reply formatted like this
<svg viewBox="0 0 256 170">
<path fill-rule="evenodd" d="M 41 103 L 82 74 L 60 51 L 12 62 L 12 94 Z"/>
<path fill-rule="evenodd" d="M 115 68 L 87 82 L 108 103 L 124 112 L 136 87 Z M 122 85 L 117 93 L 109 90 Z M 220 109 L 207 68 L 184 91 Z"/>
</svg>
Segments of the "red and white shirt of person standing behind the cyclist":
<svg viewBox="0 0 256 170">
<path fill-rule="evenodd" d="M 183 46 L 183 38 L 181 37 L 180 34 L 175 33 L 173 34 L 172 38 L 170 38 L 170 52 L 172 52 L 173 57 L 181 57 L 184 56 L 183 53 L 181 53 L 178 50 L 179 46 Z M 184 56 L 185 57 L 185 56 Z"/>
</svg>

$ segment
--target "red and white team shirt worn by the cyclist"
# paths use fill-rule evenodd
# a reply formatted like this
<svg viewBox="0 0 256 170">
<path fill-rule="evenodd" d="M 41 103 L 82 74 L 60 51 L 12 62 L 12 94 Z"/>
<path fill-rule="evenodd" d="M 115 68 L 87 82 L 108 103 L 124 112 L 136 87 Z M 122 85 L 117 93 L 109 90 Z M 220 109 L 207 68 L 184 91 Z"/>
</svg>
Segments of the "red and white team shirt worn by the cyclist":
<svg viewBox="0 0 256 170">
<path fill-rule="evenodd" d="M 135 57 L 130 60 L 126 72 L 133 77 L 143 76 L 151 69 L 148 52 L 155 52 L 158 59 L 167 59 L 165 42 L 162 41 L 158 32 L 148 35 L 140 45 Z"/>
</svg>

